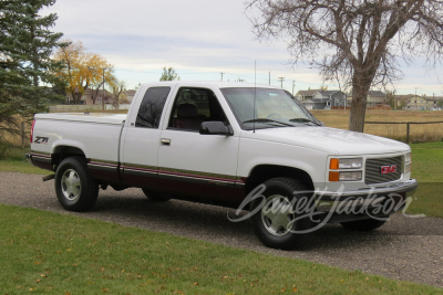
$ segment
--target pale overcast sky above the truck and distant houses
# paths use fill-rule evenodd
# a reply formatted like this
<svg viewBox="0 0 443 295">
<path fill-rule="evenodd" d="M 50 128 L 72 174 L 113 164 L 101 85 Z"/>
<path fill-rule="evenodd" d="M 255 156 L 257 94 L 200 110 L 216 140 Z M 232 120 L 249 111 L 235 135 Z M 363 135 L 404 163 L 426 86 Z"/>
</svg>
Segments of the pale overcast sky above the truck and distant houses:
<svg viewBox="0 0 443 295">
<path fill-rule="evenodd" d="M 182 81 L 224 80 L 254 82 L 292 91 L 321 86 L 319 71 L 307 64 L 292 66 L 284 40 L 256 40 L 241 0 L 58 0 L 54 31 L 82 41 L 87 51 L 105 56 L 128 88 L 158 81 L 164 66 L 173 66 Z M 258 15 L 258 14 L 257 14 Z M 403 66 L 399 94 L 443 95 L 443 67 L 429 71 L 416 62 Z M 441 76 L 439 82 L 439 77 Z M 328 85 L 328 84 L 327 84 Z M 337 85 L 329 84 L 330 89 Z"/>
</svg>

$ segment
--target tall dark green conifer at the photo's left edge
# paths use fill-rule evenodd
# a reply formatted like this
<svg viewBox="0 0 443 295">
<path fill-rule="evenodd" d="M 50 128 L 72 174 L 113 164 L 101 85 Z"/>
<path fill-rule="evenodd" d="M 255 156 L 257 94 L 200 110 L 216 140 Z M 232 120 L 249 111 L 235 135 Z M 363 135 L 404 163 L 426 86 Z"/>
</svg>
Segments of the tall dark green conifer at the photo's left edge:
<svg viewBox="0 0 443 295">
<path fill-rule="evenodd" d="M 19 133 L 21 119 L 47 112 L 62 99 L 63 81 L 53 73 L 61 64 L 51 59 L 62 33 L 50 29 L 56 14 L 39 15 L 53 0 L 0 1 L 0 133 Z"/>
</svg>

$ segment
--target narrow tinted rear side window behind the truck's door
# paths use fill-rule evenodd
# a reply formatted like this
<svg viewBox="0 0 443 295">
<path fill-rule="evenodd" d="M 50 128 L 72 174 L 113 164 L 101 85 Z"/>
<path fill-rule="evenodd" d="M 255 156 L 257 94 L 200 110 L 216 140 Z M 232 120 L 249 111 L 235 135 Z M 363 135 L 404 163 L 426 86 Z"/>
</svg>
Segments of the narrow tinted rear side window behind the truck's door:
<svg viewBox="0 0 443 295">
<path fill-rule="evenodd" d="M 135 127 L 158 128 L 169 91 L 171 87 L 151 87 L 146 91 L 138 108 Z"/>
</svg>

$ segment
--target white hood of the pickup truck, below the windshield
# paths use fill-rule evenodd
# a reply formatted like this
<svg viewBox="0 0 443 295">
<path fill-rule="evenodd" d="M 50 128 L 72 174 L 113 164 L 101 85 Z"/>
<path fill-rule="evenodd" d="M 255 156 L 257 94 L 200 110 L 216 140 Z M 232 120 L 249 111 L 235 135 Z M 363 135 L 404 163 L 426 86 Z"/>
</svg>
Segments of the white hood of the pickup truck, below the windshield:
<svg viewBox="0 0 443 295">
<path fill-rule="evenodd" d="M 329 155 L 353 156 L 402 152 L 410 150 L 403 143 L 380 136 L 329 127 L 281 127 L 244 131 L 244 138 L 276 141 L 321 150 Z"/>
</svg>

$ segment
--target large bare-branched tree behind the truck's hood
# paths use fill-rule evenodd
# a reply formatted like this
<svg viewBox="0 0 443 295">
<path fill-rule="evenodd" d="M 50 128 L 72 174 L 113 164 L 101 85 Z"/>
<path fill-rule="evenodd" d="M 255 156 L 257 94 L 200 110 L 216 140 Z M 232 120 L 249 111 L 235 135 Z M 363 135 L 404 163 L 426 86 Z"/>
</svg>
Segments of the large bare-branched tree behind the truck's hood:
<svg viewBox="0 0 443 295">
<path fill-rule="evenodd" d="M 249 0 L 259 39 L 288 38 L 295 63 L 310 60 L 323 81 L 352 87 L 349 129 L 363 131 L 371 86 L 400 78 L 399 61 L 443 53 L 441 0 Z M 322 57 L 318 57 L 321 54 Z"/>
</svg>

